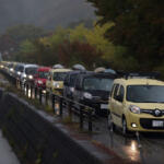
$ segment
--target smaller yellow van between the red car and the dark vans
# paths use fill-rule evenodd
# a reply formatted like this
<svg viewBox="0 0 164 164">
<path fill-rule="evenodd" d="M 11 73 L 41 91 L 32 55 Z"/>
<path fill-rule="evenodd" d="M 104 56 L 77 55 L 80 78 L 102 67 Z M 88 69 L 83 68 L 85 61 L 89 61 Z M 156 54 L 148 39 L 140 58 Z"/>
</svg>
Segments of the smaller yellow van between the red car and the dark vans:
<svg viewBox="0 0 164 164">
<path fill-rule="evenodd" d="M 62 95 L 63 80 L 70 69 L 51 69 L 49 71 L 48 80 L 46 81 L 46 90 L 48 92 Z"/>
</svg>

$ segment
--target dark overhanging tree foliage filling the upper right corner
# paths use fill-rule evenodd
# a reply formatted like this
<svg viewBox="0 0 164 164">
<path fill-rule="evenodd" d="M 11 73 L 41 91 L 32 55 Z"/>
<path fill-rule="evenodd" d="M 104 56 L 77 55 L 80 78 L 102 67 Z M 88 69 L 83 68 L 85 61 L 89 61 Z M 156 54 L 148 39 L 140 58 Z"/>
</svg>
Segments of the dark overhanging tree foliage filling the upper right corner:
<svg viewBox="0 0 164 164">
<path fill-rule="evenodd" d="M 163 0 L 87 0 L 102 16 L 99 23 L 114 22 L 106 37 L 128 48 L 141 70 L 152 70 L 164 62 Z M 126 58 L 127 56 L 125 56 Z"/>
</svg>

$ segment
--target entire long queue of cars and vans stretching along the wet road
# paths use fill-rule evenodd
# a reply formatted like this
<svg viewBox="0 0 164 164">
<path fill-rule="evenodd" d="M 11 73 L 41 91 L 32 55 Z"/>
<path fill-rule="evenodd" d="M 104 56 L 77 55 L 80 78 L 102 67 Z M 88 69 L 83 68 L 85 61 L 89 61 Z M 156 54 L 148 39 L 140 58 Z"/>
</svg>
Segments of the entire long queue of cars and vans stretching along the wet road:
<svg viewBox="0 0 164 164">
<path fill-rule="evenodd" d="M 164 131 L 164 82 L 157 73 L 118 73 L 112 69 L 87 71 L 2 61 L 0 68 L 22 83 L 91 106 L 108 116 L 108 127 L 129 131 Z"/>
</svg>

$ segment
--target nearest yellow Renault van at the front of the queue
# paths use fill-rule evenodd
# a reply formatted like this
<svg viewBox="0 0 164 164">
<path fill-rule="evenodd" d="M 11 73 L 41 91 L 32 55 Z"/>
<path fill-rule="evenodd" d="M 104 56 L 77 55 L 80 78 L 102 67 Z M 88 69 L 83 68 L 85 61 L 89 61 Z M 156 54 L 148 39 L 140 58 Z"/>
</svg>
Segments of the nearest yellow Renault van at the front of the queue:
<svg viewBox="0 0 164 164">
<path fill-rule="evenodd" d="M 164 131 L 164 82 L 147 78 L 116 79 L 109 97 L 108 127 L 129 131 Z"/>
</svg>

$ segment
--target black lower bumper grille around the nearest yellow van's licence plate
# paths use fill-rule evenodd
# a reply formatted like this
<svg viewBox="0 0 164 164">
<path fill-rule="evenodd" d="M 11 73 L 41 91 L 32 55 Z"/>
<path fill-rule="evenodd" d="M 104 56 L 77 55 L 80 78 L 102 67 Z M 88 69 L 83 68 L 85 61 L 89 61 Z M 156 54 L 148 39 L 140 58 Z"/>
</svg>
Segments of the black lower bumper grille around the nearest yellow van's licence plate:
<svg viewBox="0 0 164 164">
<path fill-rule="evenodd" d="M 164 119 L 148 119 L 148 118 L 141 118 L 141 119 L 140 119 L 140 125 L 141 125 L 141 127 L 144 128 L 144 129 L 164 130 L 164 127 L 153 127 L 153 126 L 152 126 L 153 120 L 162 120 L 162 121 L 164 121 Z"/>
</svg>

